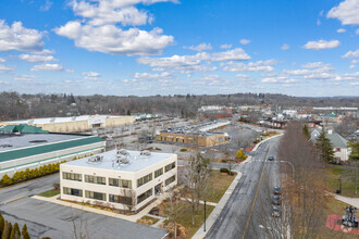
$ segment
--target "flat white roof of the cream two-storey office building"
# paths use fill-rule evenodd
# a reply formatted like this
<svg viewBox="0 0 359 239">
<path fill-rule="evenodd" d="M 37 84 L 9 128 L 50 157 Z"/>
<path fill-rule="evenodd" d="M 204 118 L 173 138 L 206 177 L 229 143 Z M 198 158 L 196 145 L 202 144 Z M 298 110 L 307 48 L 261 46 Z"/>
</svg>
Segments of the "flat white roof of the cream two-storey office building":
<svg viewBox="0 0 359 239">
<path fill-rule="evenodd" d="M 127 160 L 129 161 L 128 164 L 115 163 L 116 150 L 111 150 L 104 153 L 97 154 L 103 156 L 102 161 L 99 163 L 88 162 L 88 159 L 90 158 L 88 156 L 88 158 L 83 158 L 79 160 L 66 162 L 63 165 L 135 173 L 150 165 L 164 161 L 171 156 L 176 156 L 176 154 L 173 153 L 157 153 L 157 152 L 150 152 L 150 155 L 140 155 L 140 151 L 131 151 L 131 150 L 127 150 L 127 153 L 128 153 Z"/>
</svg>

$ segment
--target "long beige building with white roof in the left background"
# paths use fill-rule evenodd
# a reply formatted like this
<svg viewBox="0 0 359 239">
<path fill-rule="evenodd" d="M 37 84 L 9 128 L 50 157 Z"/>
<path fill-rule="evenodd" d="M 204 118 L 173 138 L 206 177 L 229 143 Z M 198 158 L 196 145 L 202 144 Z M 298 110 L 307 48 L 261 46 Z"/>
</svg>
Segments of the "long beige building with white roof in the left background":
<svg viewBox="0 0 359 239">
<path fill-rule="evenodd" d="M 73 117 L 32 118 L 25 121 L 1 122 L 0 125 L 32 125 L 51 133 L 88 131 L 92 128 L 133 124 L 134 116 L 82 115 Z"/>
</svg>

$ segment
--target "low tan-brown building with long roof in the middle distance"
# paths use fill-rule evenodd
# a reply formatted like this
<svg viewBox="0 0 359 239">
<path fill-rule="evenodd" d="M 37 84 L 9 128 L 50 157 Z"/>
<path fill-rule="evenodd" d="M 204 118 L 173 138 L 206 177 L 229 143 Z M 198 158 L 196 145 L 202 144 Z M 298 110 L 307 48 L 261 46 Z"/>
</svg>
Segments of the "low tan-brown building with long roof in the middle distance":
<svg viewBox="0 0 359 239">
<path fill-rule="evenodd" d="M 225 143 L 228 139 L 226 133 L 211 131 L 228 125 L 228 121 L 206 122 L 189 126 L 161 130 L 156 140 L 170 143 L 184 143 L 198 147 L 213 147 Z"/>
</svg>

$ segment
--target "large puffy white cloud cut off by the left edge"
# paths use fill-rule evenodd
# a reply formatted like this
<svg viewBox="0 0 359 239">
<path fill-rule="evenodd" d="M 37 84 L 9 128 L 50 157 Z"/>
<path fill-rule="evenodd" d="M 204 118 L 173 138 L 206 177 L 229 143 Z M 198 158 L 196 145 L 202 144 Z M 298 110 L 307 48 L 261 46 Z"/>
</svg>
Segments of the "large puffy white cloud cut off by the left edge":
<svg viewBox="0 0 359 239">
<path fill-rule="evenodd" d="M 0 20 L 0 52 L 40 51 L 42 46 L 40 32 L 25 28 L 21 22 L 14 22 L 9 26 L 3 20 Z"/>
</svg>

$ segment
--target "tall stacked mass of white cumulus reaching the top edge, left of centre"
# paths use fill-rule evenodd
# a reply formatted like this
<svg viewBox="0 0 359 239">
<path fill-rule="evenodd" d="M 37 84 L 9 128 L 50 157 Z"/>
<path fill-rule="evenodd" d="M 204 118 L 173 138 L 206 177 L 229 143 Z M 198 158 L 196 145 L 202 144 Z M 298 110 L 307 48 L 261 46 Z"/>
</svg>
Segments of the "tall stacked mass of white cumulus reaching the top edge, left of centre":
<svg viewBox="0 0 359 239">
<path fill-rule="evenodd" d="M 139 26 L 151 24 L 152 16 L 146 11 L 139 11 L 134 5 L 138 3 L 152 4 L 170 0 L 90 0 L 71 1 L 75 15 L 83 21 L 70 21 L 54 32 L 73 39 L 75 46 L 88 51 L 99 51 L 110 54 L 150 55 L 161 54 L 162 50 L 172 45 L 172 36 L 163 35 L 161 28 L 143 30 L 136 27 L 126 29 L 117 26 Z M 172 1 L 176 2 L 176 1 Z"/>
</svg>

